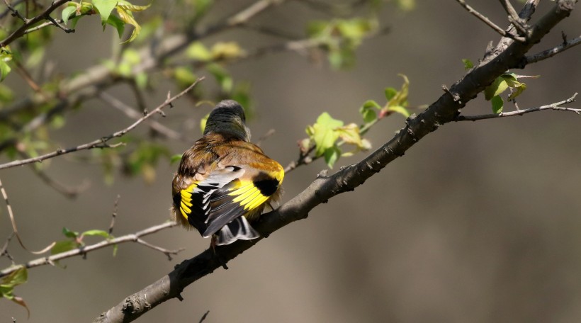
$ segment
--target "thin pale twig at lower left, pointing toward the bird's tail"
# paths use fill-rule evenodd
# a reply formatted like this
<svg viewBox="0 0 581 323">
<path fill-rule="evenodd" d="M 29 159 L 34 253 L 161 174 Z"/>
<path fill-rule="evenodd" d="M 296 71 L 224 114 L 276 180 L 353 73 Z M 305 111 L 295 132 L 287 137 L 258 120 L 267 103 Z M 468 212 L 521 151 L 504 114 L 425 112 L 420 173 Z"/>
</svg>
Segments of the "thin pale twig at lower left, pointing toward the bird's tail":
<svg viewBox="0 0 581 323">
<path fill-rule="evenodd" d="M 159 232 L 163 229 L 169 229 L 170 227 L 175 227 L 176 225 L 177 225 L 176 222 L 164 222 L 161 225 L 154 225 L 153 227 L 148 227 L 147 229 L 143 229 L 139 232 L 135 232 L 132 234 L 125 234 L 122 237 L 116 237 L 113 239 L 103 240 L 101 242 L 97 242 L 96 244 L 91 244 L 89 246 L 81 246 L 81 247 L 76 248 L 76 249 L 61 252 L 60 254 L 53 254 L 51 256 L 42 257 L 42 258 L 38 258 L 38 259 L 35 259 L 32 261 L 28 261 L 27 263 L 24 263 L 22 265 L 11 266 L 9 268 L 5 268 L 2 271 L 0 271 L 0 278 L 4 277 L 6 275 L 9 275 L 13 271 L 16 271 L 16 269 L 20 268 L 20 266 L 25 266 L 26 268 L 33 268 L 33 267 L 38 267 L 38 266 L 50 265 L 52 263 L 55 263 L 55 261 L 59 261 L 61 259 L 67 259 L 67 258 L 70 258 L 73 256 L 81 256 L 81 255 L 87 254 L 91 251 L 105 248 L 106 246 L 113 246 L 115 244 L 123 244 L 125 242 L 137 242 L 137 240 L 140 239 L 140 237 L 144 237 L 146 235 L 149 235 L 149 234 L 152 234 L 155 232 Z"/>
</svg>

